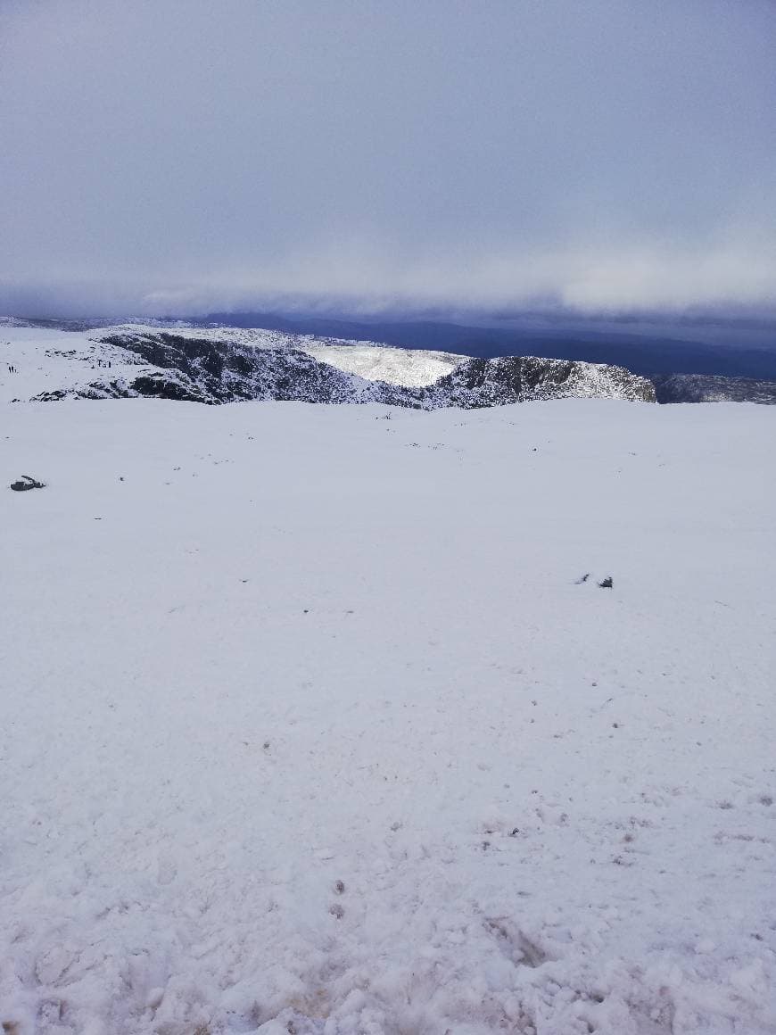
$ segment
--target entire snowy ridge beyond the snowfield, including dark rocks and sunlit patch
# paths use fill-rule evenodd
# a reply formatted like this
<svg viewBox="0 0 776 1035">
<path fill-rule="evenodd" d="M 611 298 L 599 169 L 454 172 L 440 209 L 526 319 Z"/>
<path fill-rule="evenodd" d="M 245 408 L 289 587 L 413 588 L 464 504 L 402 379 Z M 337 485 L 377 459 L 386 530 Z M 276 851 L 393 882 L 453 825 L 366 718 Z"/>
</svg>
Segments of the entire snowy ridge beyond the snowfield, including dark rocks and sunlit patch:
<svg viewBox="0 0 776 1035">
<path fill-rule="evenodd" d="M 17 401 L 149 395 L 210 404 L 372 402 L 434 410 L 540 398 L 655 398 L 646 378 L 623 367 L 531 356 L 471 359 L 280 331 L 6 325 L 2 337 L 6 364 L 0 367 L 0 391 Z"/>
</svg>

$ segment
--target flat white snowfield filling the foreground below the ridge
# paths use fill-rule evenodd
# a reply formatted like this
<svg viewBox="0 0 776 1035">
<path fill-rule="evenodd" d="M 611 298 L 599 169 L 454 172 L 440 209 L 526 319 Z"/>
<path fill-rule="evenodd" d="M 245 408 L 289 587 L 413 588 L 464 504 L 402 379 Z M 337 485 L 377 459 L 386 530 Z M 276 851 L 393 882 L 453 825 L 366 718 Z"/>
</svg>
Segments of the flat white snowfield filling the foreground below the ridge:
<svg viewBox="0 0 776 1035">
<path fill-rule="evenodd" d="M 3 406 L 0 1028 L 773 1033 L 774 431 Z"/>
</svg>

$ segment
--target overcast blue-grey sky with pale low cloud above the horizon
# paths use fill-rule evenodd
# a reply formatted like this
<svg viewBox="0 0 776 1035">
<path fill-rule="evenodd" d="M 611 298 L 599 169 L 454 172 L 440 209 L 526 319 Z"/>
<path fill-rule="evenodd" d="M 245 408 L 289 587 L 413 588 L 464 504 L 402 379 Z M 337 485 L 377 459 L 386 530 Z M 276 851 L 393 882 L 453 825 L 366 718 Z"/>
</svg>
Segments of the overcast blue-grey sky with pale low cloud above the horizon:
<svg viewBox="0 0 776 1035">
<path fill-rule="evenodd" d="M 0 310 L 776 305 L 774 0 L 0 0 Z"/>
</svg>

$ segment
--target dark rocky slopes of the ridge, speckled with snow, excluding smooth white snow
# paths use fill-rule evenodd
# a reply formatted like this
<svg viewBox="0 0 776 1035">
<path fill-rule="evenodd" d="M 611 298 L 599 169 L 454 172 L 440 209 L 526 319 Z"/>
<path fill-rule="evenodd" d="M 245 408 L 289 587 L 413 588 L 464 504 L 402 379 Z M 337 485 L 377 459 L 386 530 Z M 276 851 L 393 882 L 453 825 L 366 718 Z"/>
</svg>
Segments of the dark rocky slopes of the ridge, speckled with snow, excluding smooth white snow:
<svg viewBox="0 0 776 1035">
<path fill-rule="evenodd" d="M 309 403 L 383 403 L 436 410 L 445 406 L 474 409 L 538 398 L 607 397 L 654 402 L 652 384 L 624 367 L 573 360 L 511 356 L 497 359 L 450 356 L 449 369 L 427 383 L 397 384 L 372 380 L 327 361 L 327 346 L 297 337 L 260 347 L 240 341 L 173 334 L 166 330 L 120 330 L 98 345 L 129 354 L 129 364 L 144 365 L 133 377 L 101 375 L 86 385 L 47 389 L 33 396 L 50 402 L 66 396 L 88 398 L 148 395 L 207 404 L 247 400 Z M 341 348 L 340 345 L 328 348 Z M 379 346 L 372 347 L 376 352 Z M 398 351 L 398 350 L 397 350 Z M 312 354 L 310 354 L 312 353 Z M 445 366 L 437 354 L 439 369 Z M 329 357 L 334 359 L 334 356 Z M 112 368 L 112 367 L 110 367 Z"/>
</svg>

